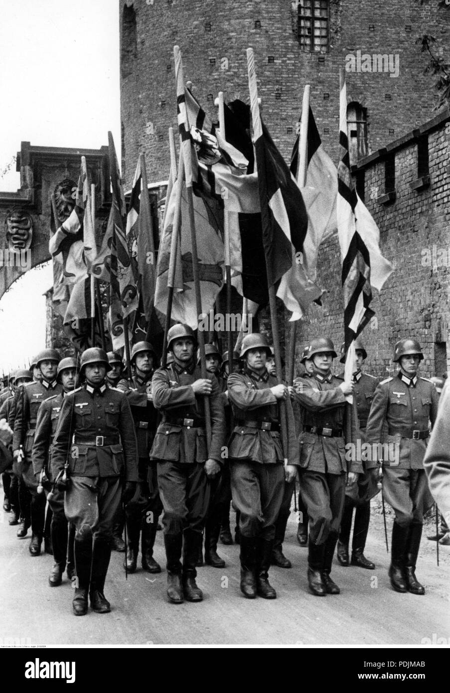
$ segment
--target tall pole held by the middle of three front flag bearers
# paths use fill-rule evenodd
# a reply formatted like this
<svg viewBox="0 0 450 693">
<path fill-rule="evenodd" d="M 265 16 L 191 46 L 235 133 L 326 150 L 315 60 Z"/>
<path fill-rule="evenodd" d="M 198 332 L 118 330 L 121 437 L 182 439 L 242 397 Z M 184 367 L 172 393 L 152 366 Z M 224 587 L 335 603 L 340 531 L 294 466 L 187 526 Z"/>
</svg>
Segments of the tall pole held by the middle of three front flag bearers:
<svg viewBox="0 0 450 693">
<path fill-rule="evenodd" d="M 249 91 L 250 91 L 250 107 L 251 107 L 251 116 L 252 116 L 252 121 L 253 121 L 253 138 L 257 139 L 257 134 L 255 132 L 256 128 L 261 130 L 261 121 L 260 121 L 260 107 L 258 105 L 258 87 L 256 84 L 256 73 L 255 73 L 255 58 L 253 55 L 253 49 L 248 48 L 246 51 L 247 54 L 247 67 L 249 71 Z M 262 132 L 258 133 L 258 137 L 262 137 Z M 258 164 L 258 158 L 256 161 L 257 168 L 260 168 Z M 259 171 L 258 171 L 258 177 L 259 177 Z M 267 214 L 267 200 L 264 200 L 264 205 L 266 206 L 266 213 L 264 214 L 264 210 L 261 209 L 262 212 L 262 223 L 264 225 L 264 218 L 267 220 L 268 214 Z M 262 207 L 262 204 L 261 204 Z M 264 227 L 262 229 L 262 234 L 264 236 Z M 277 319 L 277 312 L 276 312 L 276 295 L 275 295 L 275 286 L 273 283 L 271 283 L 271 277 L 270 277 L 270 271 L 269 271 L 269 261 L 267 259 L 267 252 L 265 252 L 264 249 L 264 258 L 266 261 L 266 272 L 267 272 L 267 288 L 269 290 L 269 308 L 270 308 L 270 317 L 271 317 L 271 328 L 272 328 L 272 336 L 273 336 L 273 351 L 275 352 L 275 367 L 276 367 L 276 374 L 278 380 L 282 380 L 282 373 L 281 373 L 281 354 L 280 354 L 280 335 L 278 333 L 278 319 Z M 287 449 L 287 416 L 286 416 L 286 403 L 284 400 L 280 400 L 280 429 L 281 429 L 281 441 L 282 441 L 282 448 L 283 448 L 283 453 L 285 456 L 285 466 L 288 464 L 288 449 Z"/>
</svg>

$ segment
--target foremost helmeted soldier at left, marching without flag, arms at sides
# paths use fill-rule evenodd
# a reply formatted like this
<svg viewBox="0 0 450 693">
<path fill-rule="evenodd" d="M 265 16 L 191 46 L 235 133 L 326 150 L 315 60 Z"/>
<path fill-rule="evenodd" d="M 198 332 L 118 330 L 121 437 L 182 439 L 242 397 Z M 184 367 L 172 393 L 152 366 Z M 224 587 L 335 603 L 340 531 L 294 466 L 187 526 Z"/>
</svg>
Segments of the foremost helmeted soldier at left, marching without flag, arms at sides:
<svg viewBox="0 0 450 693">
<path fill-rule="evenodd" d="M 62 401 L 51 453 L 52 478 L 64 470 L 57 488 L 65 490 L 64 512 L 76 530 L 76 616 L 87 613 L 88 593 L 93 611 L 111 610 L 103 590 L 114 519 L 120 502 L 136 493 L 138 480 L 132 412 L 127 396 L 105 383 L 109 367 L 103 349 L 84 351 L 84 383 Z"/>
</svg>

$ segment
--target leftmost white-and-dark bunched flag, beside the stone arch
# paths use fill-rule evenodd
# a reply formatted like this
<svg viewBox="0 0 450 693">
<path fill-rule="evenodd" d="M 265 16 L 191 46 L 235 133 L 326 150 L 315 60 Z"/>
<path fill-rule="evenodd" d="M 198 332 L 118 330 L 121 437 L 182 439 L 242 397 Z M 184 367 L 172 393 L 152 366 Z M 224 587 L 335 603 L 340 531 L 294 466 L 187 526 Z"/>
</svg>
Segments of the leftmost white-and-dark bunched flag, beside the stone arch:
<svg viewBox="0 0 450 693">
<path fill-rule="evenodd" d="M 50 239 L 48 249 L 53 257 L 62 259 L 62 282 L 75 284 L 87 277 L 97 255 L 91 211 L 91 186 L 86 159 L 81 157 L 80 178 L 75 207 Z"/>
</svg>

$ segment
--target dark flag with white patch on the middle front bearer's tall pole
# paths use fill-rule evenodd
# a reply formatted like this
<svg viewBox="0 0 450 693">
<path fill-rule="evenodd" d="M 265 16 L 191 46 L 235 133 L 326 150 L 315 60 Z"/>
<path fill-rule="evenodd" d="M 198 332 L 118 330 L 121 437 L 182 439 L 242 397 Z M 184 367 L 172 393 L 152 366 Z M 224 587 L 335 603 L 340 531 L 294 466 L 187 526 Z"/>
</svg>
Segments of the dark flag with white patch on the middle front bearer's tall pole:
<svg viewBox="0 0 450 693">
<path fill-rule="evenodd" d="M 262 123 L 258 106 L 253 51 L 247 51 L 262 240 L 267 281 L 288 310 L 303 315 L 321 290 L 307 277 L 301 254 L 307 233 L 307 213 L 300 188 Z"/>
</svg>

